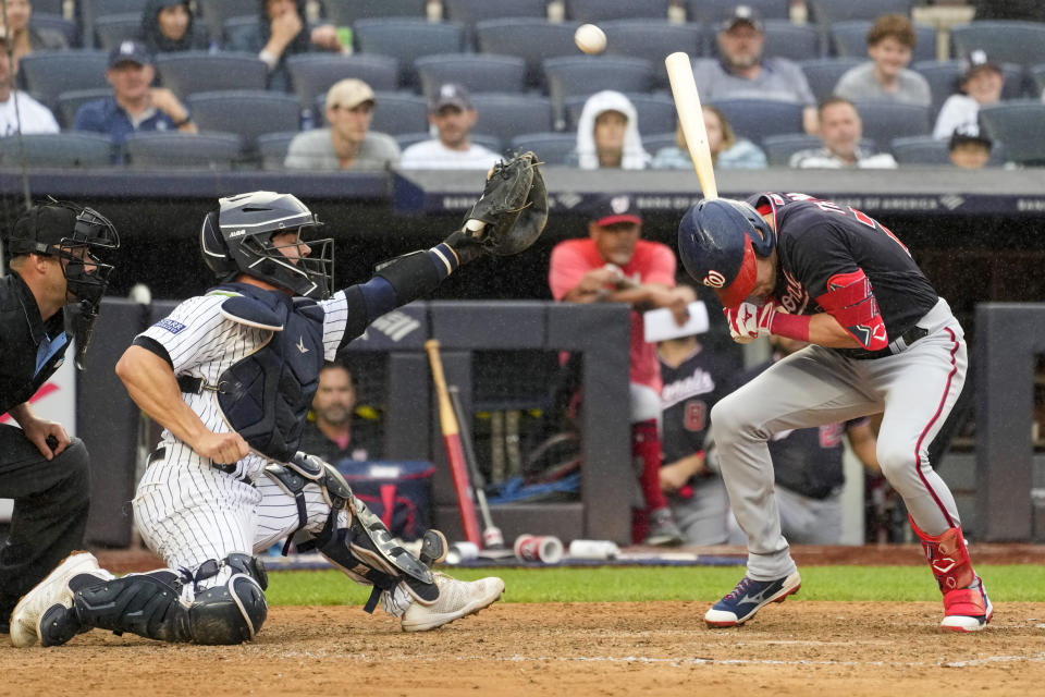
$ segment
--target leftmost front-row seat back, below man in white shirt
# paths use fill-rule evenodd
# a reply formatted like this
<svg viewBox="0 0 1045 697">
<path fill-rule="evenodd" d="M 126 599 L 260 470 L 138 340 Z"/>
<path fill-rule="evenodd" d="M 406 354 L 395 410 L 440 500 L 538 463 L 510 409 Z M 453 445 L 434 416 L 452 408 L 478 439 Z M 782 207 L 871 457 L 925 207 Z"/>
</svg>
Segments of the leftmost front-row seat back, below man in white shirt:
<svg viewBox="0 0 1045 697">
<path fill-rule="evenodd" d="M 21 138 L 0 138 L 0 166 L 70 168 L 108 167 L 114 148 L 109 136 L 99 133 L 32 133 Z"/>
</svg>

